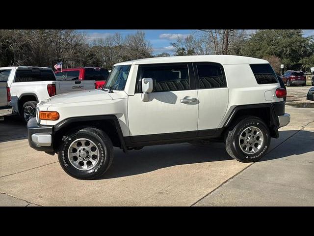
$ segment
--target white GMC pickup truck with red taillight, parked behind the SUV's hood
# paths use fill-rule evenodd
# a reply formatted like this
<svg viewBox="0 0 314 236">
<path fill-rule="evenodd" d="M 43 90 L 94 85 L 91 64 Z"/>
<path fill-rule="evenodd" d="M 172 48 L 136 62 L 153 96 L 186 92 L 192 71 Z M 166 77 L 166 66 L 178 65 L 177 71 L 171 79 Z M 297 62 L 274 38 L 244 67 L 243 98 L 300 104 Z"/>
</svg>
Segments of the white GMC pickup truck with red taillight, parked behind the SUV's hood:
<svg viewBox="0 0 314 236">
<path fill-rule="evenodd" d="M 56 81 L 51 68 L 31 66 L 1 67 L 11 91 L 13 114 L 27 122 L 35 117 L 36 104 L 56 94 L 94 89 L 95 81 Z"/>
</svg>

